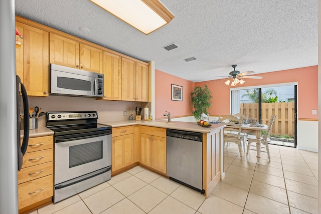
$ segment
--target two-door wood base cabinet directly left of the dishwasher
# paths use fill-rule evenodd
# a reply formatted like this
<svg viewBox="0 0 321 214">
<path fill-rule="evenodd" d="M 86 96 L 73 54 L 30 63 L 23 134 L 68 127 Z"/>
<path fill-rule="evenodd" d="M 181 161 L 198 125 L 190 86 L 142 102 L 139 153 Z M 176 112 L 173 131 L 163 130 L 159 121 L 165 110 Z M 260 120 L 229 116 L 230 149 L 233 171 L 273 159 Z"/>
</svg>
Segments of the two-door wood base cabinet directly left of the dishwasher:
<svg viewBox="0 0 321 214">
<path fill-rule="evenodd" d="M 166 129 L 140 126 L 140 163 L 166 174 Z"/>
</svg>

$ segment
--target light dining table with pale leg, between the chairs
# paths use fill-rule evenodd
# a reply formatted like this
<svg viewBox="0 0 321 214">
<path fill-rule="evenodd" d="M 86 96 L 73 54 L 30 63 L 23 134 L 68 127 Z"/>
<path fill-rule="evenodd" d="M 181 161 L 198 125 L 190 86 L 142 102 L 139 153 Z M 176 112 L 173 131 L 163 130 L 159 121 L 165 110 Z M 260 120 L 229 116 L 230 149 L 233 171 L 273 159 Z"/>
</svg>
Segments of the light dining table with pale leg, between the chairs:
<svg viewBox="0 0 321 214">
<path fill-rule="evenodd" d="M 262 139 L 262 132 L 268 129 L 267 125 L 263 124 L 242 124 L 241 132 L 252 134 L 256 136 L 256 158 L 257 162 L 260 161 L 260 153 L 261 153 L 261 139 Z"/>
</svg>

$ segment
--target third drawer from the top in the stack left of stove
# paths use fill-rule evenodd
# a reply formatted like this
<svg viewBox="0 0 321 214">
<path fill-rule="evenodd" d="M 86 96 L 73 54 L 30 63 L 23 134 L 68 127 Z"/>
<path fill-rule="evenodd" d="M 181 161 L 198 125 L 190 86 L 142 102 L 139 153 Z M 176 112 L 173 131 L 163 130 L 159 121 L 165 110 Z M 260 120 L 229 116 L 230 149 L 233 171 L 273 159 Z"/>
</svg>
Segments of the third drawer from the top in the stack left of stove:
<svg viewBox="0 0 321 214">
<path fill-rule="evenodd" d="M 53 173 L 53 162 L 43 163 L 27 168 L 22 168 L 18 172 L 18 183 L 24 183 Z"/>
</svg>

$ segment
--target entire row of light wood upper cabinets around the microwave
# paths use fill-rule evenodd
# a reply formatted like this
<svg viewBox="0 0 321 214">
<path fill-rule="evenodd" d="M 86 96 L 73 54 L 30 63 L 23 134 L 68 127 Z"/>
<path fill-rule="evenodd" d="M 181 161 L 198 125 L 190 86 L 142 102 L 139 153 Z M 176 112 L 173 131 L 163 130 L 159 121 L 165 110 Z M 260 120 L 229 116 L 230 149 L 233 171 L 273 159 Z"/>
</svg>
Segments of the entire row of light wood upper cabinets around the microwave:
<svg viewBox="0 0 321 214">
<path fill-rule="evenodd" d="M 103 100 L 148 102 L 148 63 L 16 16 L 24 39 L 17 75 L 29 96 L 48 96 L 50 63 L 104 74 Z"/>
</svg>

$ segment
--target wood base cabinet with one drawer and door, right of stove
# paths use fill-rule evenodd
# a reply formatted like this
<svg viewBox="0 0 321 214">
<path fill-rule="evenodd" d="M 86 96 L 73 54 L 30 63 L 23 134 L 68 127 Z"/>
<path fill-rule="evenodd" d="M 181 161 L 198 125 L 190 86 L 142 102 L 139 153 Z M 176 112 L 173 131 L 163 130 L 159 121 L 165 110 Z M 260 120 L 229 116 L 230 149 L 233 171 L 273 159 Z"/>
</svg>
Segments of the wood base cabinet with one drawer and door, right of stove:
<svg viewBox="0 0 321 214">
<path fill-rule="evenodd" d="M 117 171 L 134 162 L 133 127 L 117 127 L 112 129 L 111 171 Z"/>
</svg>

